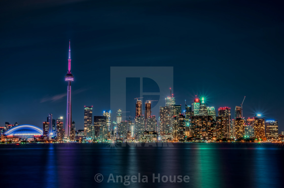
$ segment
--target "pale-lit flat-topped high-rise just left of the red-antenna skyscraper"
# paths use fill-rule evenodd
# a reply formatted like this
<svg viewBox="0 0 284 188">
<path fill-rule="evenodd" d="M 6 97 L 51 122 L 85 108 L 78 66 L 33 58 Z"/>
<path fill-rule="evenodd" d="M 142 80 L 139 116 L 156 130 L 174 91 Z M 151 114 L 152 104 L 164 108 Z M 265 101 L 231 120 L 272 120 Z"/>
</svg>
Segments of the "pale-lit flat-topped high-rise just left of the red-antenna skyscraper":
<svg viewBox="0 0 284 188">
<path fill-rule="evenodd" d="M 159 111 L 160 134 L 171 133 L 170 112 L 171 110 L 168 106 L 160 106 L 160 111 Z"/>
</svg>

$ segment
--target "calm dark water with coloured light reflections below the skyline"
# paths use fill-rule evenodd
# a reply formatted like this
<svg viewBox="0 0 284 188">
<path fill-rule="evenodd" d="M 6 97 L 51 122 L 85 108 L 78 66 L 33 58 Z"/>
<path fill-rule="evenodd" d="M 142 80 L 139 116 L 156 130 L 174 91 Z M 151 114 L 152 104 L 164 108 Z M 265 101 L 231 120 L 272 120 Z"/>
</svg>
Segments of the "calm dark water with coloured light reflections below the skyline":
<svg viewBox="0 0 284 188">
<path fill-rule="evenodd" d="M 282 187 L 284 146 L 274 143 L 0 144 L 3 187 Z M 104 177 L 97 183 L 97 173 Z M 116 175 L 147 175 L 148 183 L 107 183 Z M 153 183 L 153 173 L 189 182 Z M 178 179 L 176 179 L 177 181 Z M 123 179 L 124 181 L 124 179 Z M 1 187 L 2 187 L 1 186 Z"/>
</svg>

